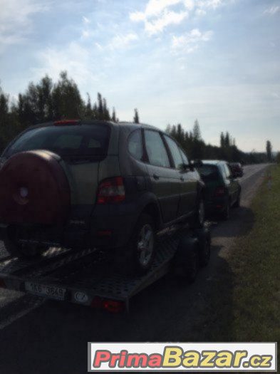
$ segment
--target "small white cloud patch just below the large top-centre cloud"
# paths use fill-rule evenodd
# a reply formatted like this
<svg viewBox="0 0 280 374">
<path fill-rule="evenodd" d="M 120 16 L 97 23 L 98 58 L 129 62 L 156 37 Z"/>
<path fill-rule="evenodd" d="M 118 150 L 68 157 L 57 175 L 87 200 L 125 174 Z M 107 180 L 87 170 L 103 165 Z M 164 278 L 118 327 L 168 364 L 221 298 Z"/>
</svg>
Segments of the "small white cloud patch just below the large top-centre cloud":
<svg viewBox="0 0 280 374">
<path fill-rule="evenodd" d="M 185 51 L 192 53 L 199 48 L 201 42 L 209 41 L 212 38 L 212 31 L 199 31 L 198 28 L 193 28 L 189 33 L 185 33 L 181 36 L 173 36 L 172 48 L 179 51 Z"/>
</svg>

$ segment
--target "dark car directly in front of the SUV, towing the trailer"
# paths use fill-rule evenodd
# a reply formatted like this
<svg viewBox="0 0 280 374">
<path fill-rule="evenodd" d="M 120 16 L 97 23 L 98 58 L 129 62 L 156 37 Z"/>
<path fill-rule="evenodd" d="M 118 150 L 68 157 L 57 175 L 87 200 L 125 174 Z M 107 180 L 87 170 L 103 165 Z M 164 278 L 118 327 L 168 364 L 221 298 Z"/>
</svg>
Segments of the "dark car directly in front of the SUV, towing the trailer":
<svg viewBox="0 0 280 374">
<path fill-rule="evenodd" d="M 204 160 L 197 169 L 205 183 L 205 209 L 208 214 L 217 213 L 229 218 L 229 209 L 239 207 L 241 186 L 225 161 Z"/>
</svg>

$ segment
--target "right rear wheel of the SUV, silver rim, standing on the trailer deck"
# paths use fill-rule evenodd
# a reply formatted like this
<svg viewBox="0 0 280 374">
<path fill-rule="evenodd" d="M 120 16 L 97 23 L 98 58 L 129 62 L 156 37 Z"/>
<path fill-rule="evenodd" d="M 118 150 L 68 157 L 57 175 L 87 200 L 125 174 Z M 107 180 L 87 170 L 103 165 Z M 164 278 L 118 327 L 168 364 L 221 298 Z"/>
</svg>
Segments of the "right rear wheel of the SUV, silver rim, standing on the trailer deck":
<svg viewBox="0 0 280 374">
<path fill-rule="evenodd" d="M 116 253 L 115 264 L 125 274 L 145 274 L 155 257 L 155 223 L 142 213 L 126 248 Z"/>
</svg>

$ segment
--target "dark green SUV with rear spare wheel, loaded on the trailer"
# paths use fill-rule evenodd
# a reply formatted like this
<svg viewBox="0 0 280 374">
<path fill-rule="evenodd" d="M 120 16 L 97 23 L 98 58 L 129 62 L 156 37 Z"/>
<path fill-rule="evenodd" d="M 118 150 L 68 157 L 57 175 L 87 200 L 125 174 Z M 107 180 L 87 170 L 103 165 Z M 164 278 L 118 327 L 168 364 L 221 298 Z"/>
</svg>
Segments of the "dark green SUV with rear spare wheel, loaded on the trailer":
<svg viewBox="0 0 280 374">
<path fill-rule="evenodd" d="M 15 256 L 49 246 L 112 249 L 145 272 L 156 232 L 204 223 L 197 170 L 172 137 L 149 125 L 36 125 L 11 142 L 1 164 L 1 238 Z"/>
</svg>

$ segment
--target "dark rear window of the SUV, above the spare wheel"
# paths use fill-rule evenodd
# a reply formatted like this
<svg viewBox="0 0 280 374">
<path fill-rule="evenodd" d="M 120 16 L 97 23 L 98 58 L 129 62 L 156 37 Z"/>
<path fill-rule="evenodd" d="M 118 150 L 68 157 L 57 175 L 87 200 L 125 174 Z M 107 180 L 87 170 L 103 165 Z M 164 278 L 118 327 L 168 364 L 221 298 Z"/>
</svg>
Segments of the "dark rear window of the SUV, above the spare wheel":
<svg viewBox="0 0 280 374">
<path fill-rule="evenodd" d="M 26 131 L 6 150 L 5 157 L 26 150 L 50 150 L 61 156 L 106 155 L 108 125 L 46 126 Z"/>
</svg>

